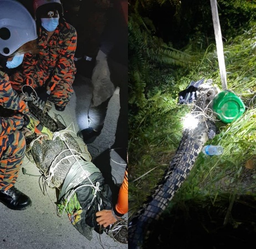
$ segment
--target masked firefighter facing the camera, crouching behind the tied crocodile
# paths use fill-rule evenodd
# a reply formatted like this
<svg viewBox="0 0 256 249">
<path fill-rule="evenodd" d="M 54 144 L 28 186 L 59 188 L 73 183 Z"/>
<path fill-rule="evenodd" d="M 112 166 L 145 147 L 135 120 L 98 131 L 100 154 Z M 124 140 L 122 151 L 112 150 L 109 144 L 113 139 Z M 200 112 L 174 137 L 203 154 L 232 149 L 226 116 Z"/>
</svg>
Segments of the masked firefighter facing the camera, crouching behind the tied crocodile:
<svg viewBox="0 0 256 249">
<path fill-rule="evenodd" d="M 49 98 L 57 111 L 64 111 L 74 92 L 76 30 L 65 22 L 60 0 L 34 0 L 33 8 L 39 54 L 24 55 L 22 70 L 12 75 L 11 84 L 17 91 L 31 86 L 25 91 L 34 94 L 42 110 Z"/>
</svg>

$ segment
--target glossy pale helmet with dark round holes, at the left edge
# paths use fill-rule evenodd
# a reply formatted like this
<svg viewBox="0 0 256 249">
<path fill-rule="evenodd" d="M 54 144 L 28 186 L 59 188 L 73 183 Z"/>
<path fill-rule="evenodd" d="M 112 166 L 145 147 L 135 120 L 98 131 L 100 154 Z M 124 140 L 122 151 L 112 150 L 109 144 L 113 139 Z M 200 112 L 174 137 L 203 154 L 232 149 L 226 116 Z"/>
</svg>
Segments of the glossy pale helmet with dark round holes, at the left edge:
<svg viewBox="0 0 256 249">
<path fill-rule="evenodd" d="M 0 1 L 0 54 L 9 56 L 37 39 L 36 24 L 28 10 L 14 0 Z"/>
</svg>

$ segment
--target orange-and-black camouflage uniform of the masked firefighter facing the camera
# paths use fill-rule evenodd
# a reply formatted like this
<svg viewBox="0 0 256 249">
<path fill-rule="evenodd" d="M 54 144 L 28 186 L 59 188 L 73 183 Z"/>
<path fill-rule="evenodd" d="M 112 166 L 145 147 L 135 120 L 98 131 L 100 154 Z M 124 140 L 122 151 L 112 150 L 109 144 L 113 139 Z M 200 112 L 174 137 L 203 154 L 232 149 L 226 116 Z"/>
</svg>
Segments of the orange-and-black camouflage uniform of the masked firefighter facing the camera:
<svg viewBox="0 0 256 249">
<path fill-rule="evenodd" d="M 55 105 L 66 106 L 74 92 L 76 38 L 75 28 L 66 22 L 59 23 L 48 42 L 47 33 L 40 28 L 39 54 L 25 54 L 22 72 L 10 77 L 13 89 L 21 90 L 24 84 L 34 89 L 45 86 Z"/>
</svg>

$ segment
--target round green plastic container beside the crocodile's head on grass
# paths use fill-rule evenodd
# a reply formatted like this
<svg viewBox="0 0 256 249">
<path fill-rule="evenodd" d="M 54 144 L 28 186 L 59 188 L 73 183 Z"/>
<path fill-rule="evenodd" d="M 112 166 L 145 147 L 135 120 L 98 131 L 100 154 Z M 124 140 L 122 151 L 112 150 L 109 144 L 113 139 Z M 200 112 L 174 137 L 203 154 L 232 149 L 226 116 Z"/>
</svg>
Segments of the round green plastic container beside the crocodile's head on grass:
<svg viewBox="0 0 256 249">
<path fill-rule="evenodd" d="M 217 113 L 214 115 L 223 123 L 231 123 L 243 115 L 245 106 L 233 92 L 222 91 L 213 99 L 212 110 Z"/>
</svg>

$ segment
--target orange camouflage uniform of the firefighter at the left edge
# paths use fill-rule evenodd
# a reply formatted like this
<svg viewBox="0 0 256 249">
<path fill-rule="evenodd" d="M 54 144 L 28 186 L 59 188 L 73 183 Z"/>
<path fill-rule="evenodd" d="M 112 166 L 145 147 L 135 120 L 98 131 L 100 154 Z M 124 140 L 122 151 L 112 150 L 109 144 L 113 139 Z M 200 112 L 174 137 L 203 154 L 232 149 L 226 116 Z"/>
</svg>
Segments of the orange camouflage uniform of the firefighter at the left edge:
<svg viewBox="0 0 256 249">
<path fill-rule="evenodd" d="M 13 91 L 9 77 L 0 71 L 0 106 L 29 115 L 28 106 Z M 25 138 L 21 131 L 22 117 L 0 114 L 0 190 L 12 188 L 25 155 Z"/>
</svg>

